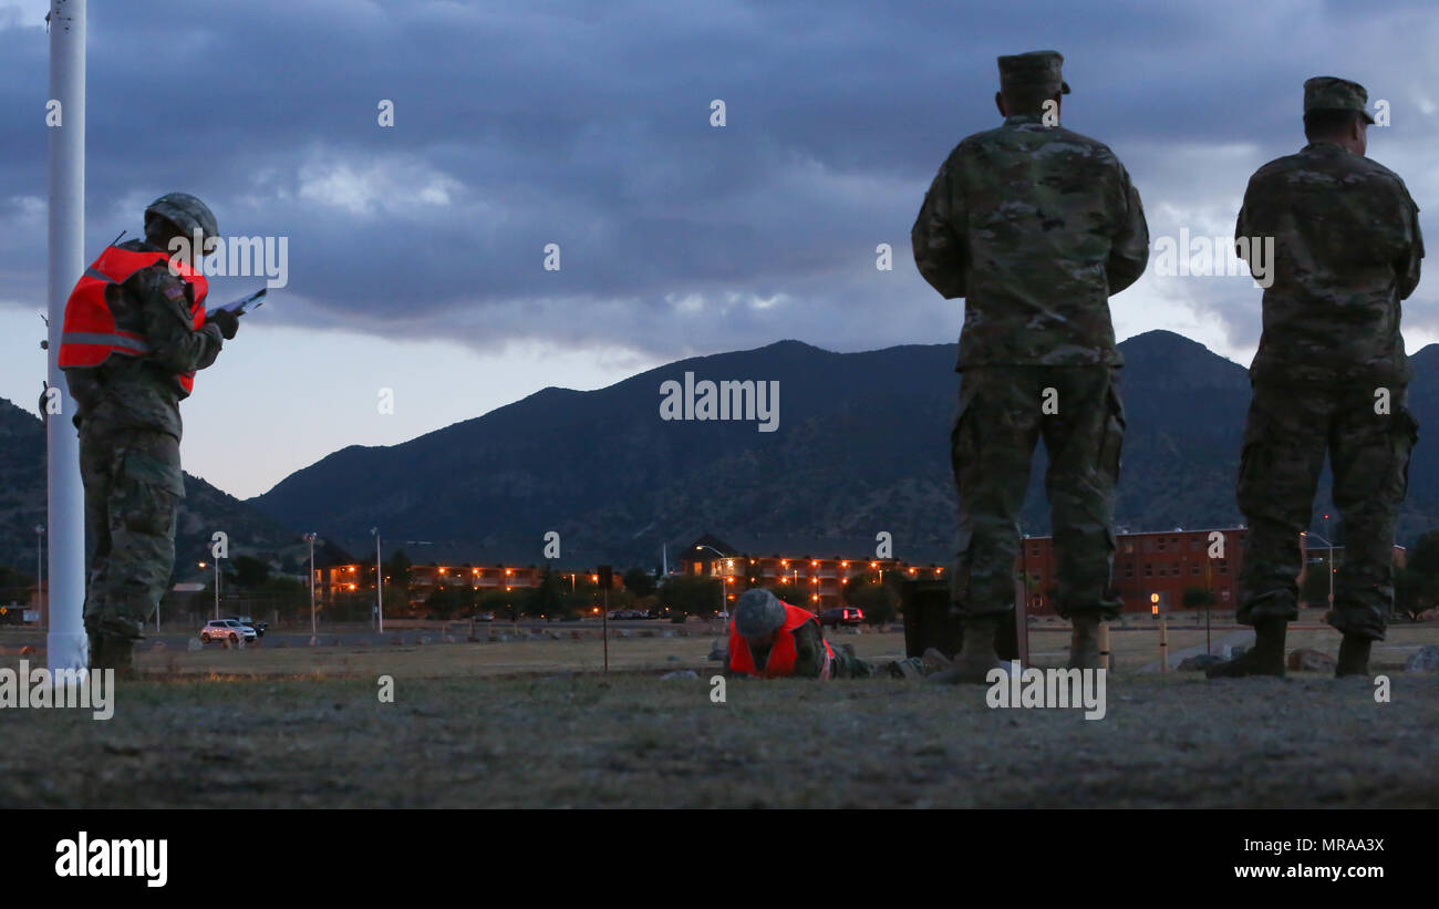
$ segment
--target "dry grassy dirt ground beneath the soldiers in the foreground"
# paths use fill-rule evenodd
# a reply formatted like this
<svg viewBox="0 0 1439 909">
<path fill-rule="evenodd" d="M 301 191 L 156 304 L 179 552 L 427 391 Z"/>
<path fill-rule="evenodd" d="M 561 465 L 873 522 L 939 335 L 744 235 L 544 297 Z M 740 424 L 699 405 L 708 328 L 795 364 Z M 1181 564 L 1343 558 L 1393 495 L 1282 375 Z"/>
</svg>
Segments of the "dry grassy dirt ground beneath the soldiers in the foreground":
<svg viewBox="0 0 1439 909">
<path fill-rule="evenodd" d="M 711 637 L 612 641 L 609 676 L 597 640 L 148 650 L 109 721 L 0 709 L 0 807 L 1439 807 L 1439 676 L 1399 670 L 1439 629 L 1376 652 L 1387 703 L 1315 673 L 1140 675 L 1157 634 L 1114 640 L 1095 721 L 892 679 L 730 682 L 715 703 Z M 1036 663 L 1065 641 L 1036 630 Z"/>
</svg>

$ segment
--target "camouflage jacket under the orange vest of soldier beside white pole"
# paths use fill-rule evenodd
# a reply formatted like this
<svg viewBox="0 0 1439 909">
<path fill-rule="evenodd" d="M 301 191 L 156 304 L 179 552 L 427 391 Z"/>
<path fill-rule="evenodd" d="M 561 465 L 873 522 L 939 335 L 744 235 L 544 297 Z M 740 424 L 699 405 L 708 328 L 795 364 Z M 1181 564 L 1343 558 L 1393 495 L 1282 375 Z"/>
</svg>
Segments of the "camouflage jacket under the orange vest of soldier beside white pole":
<svg viewBox="0 0 1439 909">
<path fill-rule="evenodd" d="M 119 249 L 163 252 L 142 240 L 121 243 Z M 194 328 L 190 301 L 190 286 L 171 275 L 163 262 L 140 269 L 119 285 L 111 306 L 141 312 L 150 354 L 111 355 L 94 370 L 66 370 L 71 397 L 79 406 L 75 426 L 94 420 L 114 429 L 150 429 L 180 439 L 180 388 L 174 374 L 209 367 L 223 344 L 219 325 Z"/>
</svg>

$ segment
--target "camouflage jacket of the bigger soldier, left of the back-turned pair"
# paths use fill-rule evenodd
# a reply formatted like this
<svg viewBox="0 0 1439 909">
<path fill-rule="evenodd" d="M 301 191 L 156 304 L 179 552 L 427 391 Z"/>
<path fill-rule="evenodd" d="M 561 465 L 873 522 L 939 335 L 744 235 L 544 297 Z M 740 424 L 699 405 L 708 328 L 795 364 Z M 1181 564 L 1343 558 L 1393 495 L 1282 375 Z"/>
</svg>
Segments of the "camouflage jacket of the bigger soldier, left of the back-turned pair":
<svg viewBox="0 0 1439 909">
<path fill-rule="evenodd" d="M 1109 295 L 1140 275 L 1150 232 L 1102 142 L 1016 115 L 961 141 L 909 234 L 925 280 L 964 298 L 958 368 L 1121 365 Z"/>
</svg>

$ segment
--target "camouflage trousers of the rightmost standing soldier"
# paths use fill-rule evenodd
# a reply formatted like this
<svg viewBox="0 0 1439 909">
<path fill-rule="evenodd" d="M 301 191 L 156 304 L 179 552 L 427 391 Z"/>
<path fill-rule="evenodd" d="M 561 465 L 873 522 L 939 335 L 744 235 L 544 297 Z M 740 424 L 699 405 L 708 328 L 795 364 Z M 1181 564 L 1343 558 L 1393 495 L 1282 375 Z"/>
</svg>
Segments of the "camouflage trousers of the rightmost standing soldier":
<svg viewBox="0 0 1439 909">
<path fill-rule="evenodd" d="M 1239 511 L 1248 522 L 1239 571 L 1239 621 L 1299 614 L 1299 534 L 1330 456 L 1344 562 L 1334 575 L 1328 621 L 1345 634 L 1384 639 L 1394 603 L 1394 519 L 1409 485 L 1419 424 L 1403 385 L 1376 413 L 1376 388 L 1347 391 L 1253 383 L 1239 463 Z"/>
</svg>

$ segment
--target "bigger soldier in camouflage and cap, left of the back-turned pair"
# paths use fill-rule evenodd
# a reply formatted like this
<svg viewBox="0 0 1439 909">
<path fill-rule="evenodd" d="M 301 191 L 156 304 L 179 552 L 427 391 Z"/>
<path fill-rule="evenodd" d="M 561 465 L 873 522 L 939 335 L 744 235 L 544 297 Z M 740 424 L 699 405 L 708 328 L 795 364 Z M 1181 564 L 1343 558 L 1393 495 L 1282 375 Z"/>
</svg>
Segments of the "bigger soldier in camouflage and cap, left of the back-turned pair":
<svg viewBox="0 0 1439 909">
<path fill-rule="evenodd" d="M 1148 262 L 1140 196 L 1104 144 L 1058 125 L 1063 58 L 999 58 L 1004 124 L 961 141 L 925 194 L 911 239 L 935 291 L 964 298 L 951 460 L 960 539 L 951 575 L 964 647 L 943 682 L 984 682 L 1014 603 L 1019 513 L 1035 443 L 1059 559 L 1073 667 L 1098 667 L 1109 587 L 1124 408 L 1108 299 Z"/>
</svg>

